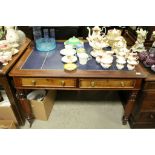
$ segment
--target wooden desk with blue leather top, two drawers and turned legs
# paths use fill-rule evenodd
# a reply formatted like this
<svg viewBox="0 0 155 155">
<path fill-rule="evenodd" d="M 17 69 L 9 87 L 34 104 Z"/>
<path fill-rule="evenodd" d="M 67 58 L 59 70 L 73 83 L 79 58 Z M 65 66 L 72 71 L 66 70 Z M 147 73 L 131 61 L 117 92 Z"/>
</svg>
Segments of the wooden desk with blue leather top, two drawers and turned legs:
<svg viewBox="0 0 155 155">
<path fill-rule="evenodd" d="M 57 42 L 55 50 L 38 52 L 31 44 L 9 74 L 13 77 L 20 103 L 30 125 L 34 117 L 26 99 L 27 89 L 130 91 L 122 117 L 122 123 L 125 125 L 145 78 L 141 66 L 137 65 L 134 71 L 128 71 L 126 67 L 124 70 L 117 70 L 116 66 L 112 65 L 106 70 L 92 58 L 86 65 L 77 62 L 77 70 L 68 72 L 63 69 L 64 64 L 61 61 L 60 50 L 63 48 L 63 42 Z M 87 53 L 92 50 L 88 43 L 85 43 L 85 48 Z"/>
</svg>

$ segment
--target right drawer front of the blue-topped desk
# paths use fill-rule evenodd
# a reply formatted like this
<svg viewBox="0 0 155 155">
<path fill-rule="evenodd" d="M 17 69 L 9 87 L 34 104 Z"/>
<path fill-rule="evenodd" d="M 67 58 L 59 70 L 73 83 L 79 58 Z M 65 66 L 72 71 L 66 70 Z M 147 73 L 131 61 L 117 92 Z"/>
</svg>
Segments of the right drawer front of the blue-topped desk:
<svg viewBox="0 0 155 155">
<path fill-rule="evenodd" d="M 80 88 L 134 88 L 136 80 L 131 79 L 80 79 Z"/>
</svg>

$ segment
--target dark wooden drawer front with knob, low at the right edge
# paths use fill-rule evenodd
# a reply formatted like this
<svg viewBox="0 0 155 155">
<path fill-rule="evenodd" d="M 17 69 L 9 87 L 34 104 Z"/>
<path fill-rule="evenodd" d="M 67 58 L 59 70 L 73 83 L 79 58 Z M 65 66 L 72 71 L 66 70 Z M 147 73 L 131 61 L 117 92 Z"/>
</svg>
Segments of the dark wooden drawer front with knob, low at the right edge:
<svg viewBox="0 0 155 155">
<path fill-rule="evenodd" d="M 155 112 L 142 112 L 139 116 L 140 122 L 155 122 Z"/>
</svg>

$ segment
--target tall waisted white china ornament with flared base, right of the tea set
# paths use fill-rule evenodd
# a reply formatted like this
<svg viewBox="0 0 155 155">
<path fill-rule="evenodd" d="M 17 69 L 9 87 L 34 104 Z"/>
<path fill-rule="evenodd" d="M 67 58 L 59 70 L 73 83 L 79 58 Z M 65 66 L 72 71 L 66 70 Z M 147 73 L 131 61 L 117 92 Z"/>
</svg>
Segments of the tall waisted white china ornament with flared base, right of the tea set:
<svg viewBox="0 0 155 155">
<path fill-rule="evenodd" d="M 145 51 L 144 42 L 147 36 L 148 31 L 141 29 L 137 29 L 137 40 L 135 44 L 131 47 L 133 51 L 142 52 Z"/>
</svg>

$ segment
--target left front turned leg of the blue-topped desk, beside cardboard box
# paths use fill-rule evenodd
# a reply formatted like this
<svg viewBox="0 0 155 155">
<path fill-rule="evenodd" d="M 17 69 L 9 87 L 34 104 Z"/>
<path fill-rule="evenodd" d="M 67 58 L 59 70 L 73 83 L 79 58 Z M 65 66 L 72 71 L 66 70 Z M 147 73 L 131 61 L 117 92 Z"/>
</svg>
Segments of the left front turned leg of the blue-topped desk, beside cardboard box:
<svg viewBox="0 0 155 155">
<path fill-rule="evenodd" d="M 22 105 L 23 111 L 25 113 L 25 117 L 30 123 L 30 127 L 31 127 L 34 121 L 34 116 L 30 106 L 30 101 L 26 99 L 26 95 L 23 90 L 17 90 L 17 96 L 20 101 L 20 104 Z"/>
</svg>

